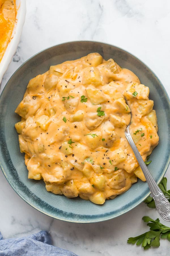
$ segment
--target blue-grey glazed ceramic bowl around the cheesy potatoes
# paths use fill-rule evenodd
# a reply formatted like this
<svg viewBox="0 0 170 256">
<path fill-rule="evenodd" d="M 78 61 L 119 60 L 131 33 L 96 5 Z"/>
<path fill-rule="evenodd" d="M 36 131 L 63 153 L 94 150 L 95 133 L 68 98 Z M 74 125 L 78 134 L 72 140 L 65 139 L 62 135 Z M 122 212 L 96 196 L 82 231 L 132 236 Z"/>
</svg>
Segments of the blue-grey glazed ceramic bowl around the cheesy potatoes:
<svg viewBox="0 0 170 256">
<path fill-rule="evenodd" d="M 139 59 L 118 47 L 99 42 L 69 42 L 48 48 L 27 60 L 7 82 L 0 97 L 0 167 L 16 193 L 40 212 L 69 222 L 99 222 L 128 212 L 143 202 L 149 195 L 148 185 L 138 180 L 124 194 L 104 205 L 95 205 L 78 198 L 68 199 L 54 195 L 45 189 L 44 182 L 28 179 L 24 154 L 20 153 L 18 134 L 14 124 L 20 117 L 14 110 L 23 98 L 29 80 L 44 73 L 50 65 L 73 60 L 91 52 L 100 53 L 104 59 L 113 58 L 121 67 L 133 71 L 141 83 L 149 86 L 150 99 L 158 117 L 158 146 L 153 150 L 149 170 L 159 183 L 169 166 L 170 102 L 156 75 Z"/>
</svg>

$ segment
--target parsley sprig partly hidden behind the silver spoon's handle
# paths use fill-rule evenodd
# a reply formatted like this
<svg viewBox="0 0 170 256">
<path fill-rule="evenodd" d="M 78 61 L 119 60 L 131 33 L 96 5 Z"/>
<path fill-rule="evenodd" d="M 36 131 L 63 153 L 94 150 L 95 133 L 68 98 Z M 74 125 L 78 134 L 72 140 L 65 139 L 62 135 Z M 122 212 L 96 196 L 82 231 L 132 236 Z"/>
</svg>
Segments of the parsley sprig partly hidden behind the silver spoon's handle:
<svg viewBox="0 0 170 256">
<path fill-rule="evenodd" d="M 163 177 L 162 181 L 160 182 L 160 184 L 158 186 L 160 187 L 163 194 L 170 202 L 170 190 L 167 190 L 167 178 Z M 153 197 L 148 196 L 145 199 L 144 203 L 146 203 L 149 208 L 156 208 Z"/>
</svg>

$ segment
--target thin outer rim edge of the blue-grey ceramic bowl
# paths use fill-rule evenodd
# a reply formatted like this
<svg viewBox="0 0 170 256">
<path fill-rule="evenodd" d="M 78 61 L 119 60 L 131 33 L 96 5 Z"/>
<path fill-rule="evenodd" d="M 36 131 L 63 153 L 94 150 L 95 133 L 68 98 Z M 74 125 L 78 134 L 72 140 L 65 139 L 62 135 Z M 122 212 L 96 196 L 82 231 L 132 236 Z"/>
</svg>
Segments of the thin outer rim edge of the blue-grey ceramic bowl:
<svg viewBox="0 0 170 256">
<path fill-rule="evenodd" d="M 150 67 L 148 67 L 148 65 L 146 65 L 143 61 L 141 61 L 141 59 L 139 59 L 137 56 L 135 56 L 134 54 L 132 54 L 131 52 L 129 52 L 129 51 L 127 51 L 127 50 L 124 50 L 123 48 L 120 48 L 120 47 L 118 47 L 118 46 L 114 46 L 114 45 L 111 45 L 111 44 L 99 42 L 99 41 L 77 40 L 77 41 L 64 42 L 64 43 L 61 43 L 61 44 L 57 44 L 57 45 L 54 45 L 54 46 L 50 46 L 50 47 L 48 47 L 48 48 L 45 48 L 45 49 L 39 51 L 38 53 L 35 53 L 33 56 L 31 56 L 29 59 L 27 59 L 24 63 L 22 63 L 22 65 L 20 65 L 20 67 L 18 67 L 18 69 L 12 74 L 12 76 L 10 77 L 10 79 L 14 76 L 15 73 L 18 72 L 18 70 L 19 70 L 23 65 L 25 65 L 25 63 L 27 63 L 29 60 L 31 60 L 31 59 L 32 59 L 33 57 L 35 57 L 36 55 L 42 53 L 43 51 L 46 51 L 46 50 L 48 50 L 48 49 L 50 49 L 50 48 L 53 48 L 53 47 L 57 47 L 57 46 L 62 46 L 62 45 L 65 45 L 65 44 L 69 44 L 69 43 L 86 43 L 86 42 L 87 42 L 87 43 L 89 43 L 89 42 L 90 42 L 90 43 L 99 43 L 99 44 L 103 44 L 103 45 L 115 47 L 115 48 L 117 48 L 117 49 L 120 49 L 120 50 L 122 50 L 122 51 L 124 51 L 124 52 L 126 52 L 126 53 L 128 53 L 128 54 L 130 54 L 130 55 L 132 55 L 132 56 L 135 57 L 137 60 L 139 60 L 143 65 L 145 65 L 145 66 L 152 72 L 152 74 L 156 77 L 156 79 L 158 80 L 158 82 L 161 84 L 161 86 L 162 86 L 162 88 L 163 88 L 163 91 L 164 91 L 164 93 L 165 93 L 165 96 L 167 97 L 168 104 L 169 104 L 169 108 L 170 108 L 170 99 L 169 99 L 169 95 L 167 94 L 167 91 L 166 91 L 165 87 L 163 86 L 162 82 L 161 82 L 160 79 L 157 77 L 157 75 L 152 71 L 152 69 L 150 69 Z M 8 81 L 9 81 L 10 79 L 8 79 Z M 6 85 L 8 84 L 8 81 L 7 81 Z M 5 86 L 6 86 L 6 85 L 5 85 Z M 3 91 L 2 91 L 2 93 L 1 93 L 1 95 L 0 95 L 0 102 L 1 102 L 1 99 L 3 98 L 3 92 L 4 92 L 4 90 L 5 90 L 5 87 L 3 88 Z M 164 171 L 162 172 L 161 176 L 159 177 L 159 179 L 158 179 L 158 181 L 157 181 L 157 184 L 159 184 L 160 181 L 162 180 L 162 178 L 164 177 L 164 175 L 165 175 L 165 173 L 166 173 L 166 171 L 167 171 L 167 169 L 168 169 L 169 164 L 170 164 L 170 154 L 169 154 L 169 158 L 168 158 L 168 160 L 167 160 L 167 162 L 166 162 L 166 165 L 165 165 L 165 167 L 164 167 Z M 95 218 L 97 218 L 97 220 L 94 220 L 94 219 L 84 220 L 84 221 L 83 221 L 83 220 L 78 220 L 78 221 L 75 221 L 75 220 L 68 220 L 67 218 L 60 218 L 60 217 L 57 217 L 57 216 L 53 216 L 52 214 L 46 213 L 45 211 L 43 211 L 43 210 L 39 209 L 38 207 L 36 207 L 35 205 L 31 204 L 31 203 L 30 203 L 29 201 L 27 201 L 27 199 L 25 199 L 25 198 L 20 194 L 20 192 L 17 191 L 17 189 L 12 185 L 12 183 L 10 182 L 10 180 L 9 180 L 9 178 L 8 178 L 6 172 L 5 172 L 5 170 L 4 170 L 4 168 L 3 168 L 2 164 L 1 164 L 1 160 L 0 160 L 0 169 L 2 170 L 2 172 L 3 172 L 4 176 L 5 176 L 5 178 L 7 179 L 8 183 L 10 184 L 10 186 L 14 189 L 14 191 L 15 191 L 26 203 L 28 203 L 28 204 L 31 205 L 33 208 L 35 208 L 35 209 L 38 210 L 39 212 L 41 212 L 41 213 L 43 213 L 43 214 L 45 214 L 45 215 L 47 215 L 47 216 L 49 216 L 49 217 L 52 217 L 52 218 L 57 219 L 57 220 L 66 221 L 66 222 L 72 222 L 72 223 L 95 223 L 95 222 L 101 222 L 101 221 L 105 221 L 105 220 L 110 220 L 110 219 L 116 218 L 116 217 L 118 217 L 118 216 L 121 216 L 122 214 L 124 214 L 124 213 L 126 213 L 126 212 L 129 212 L 129 211 L 132 210 L 133 208 L 137 207 L 140 203 L 142 203 L 142 202 L 150 195 L 150 191 L 149 191 L 148 193 L 146 193 L 145 196 L 143 196 L 142 199 L 138 200 L 138 202 L 137 202 L 135 205 L 131 206 L 129 209 L 122 210 L 122 212 L 121 212 L 120 214 L 116 214 L 116 215 L 114 215 L 114 216 L 112 216 L 112 215 L 113 215 L 112 212 L 107 212 L 107 213 L 109 214 L 109 216 L 106 215 L 106 217 L 105 217 L 104 214 L 103 214 L 102 216 L 101 216 L 101 215 L 97 215 L 97 216 L 95 217 Z M 77 215 L 81 215 L 81 214 L 77 214 Z M 82 215 L 81 215 L 81 216 L 82 216 Z M 88 215 L 86 215 L 86 216 L 88 216 Z"/>
</svg>

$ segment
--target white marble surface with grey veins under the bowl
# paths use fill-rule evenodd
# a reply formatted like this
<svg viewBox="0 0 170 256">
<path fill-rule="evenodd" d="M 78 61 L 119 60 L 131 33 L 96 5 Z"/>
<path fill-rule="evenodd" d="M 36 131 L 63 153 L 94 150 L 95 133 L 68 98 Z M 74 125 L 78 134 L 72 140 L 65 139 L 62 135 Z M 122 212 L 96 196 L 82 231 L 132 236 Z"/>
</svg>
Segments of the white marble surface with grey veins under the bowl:
<svg viewBox="0 0 170 256">
<path fill-rule="evenodd" d="M 38 51 L 62 42 L 94 40 L 120 46 L 138 56 L 158 75 L 170 95 L 169 22 L 170 2 L 166 0 L 27 0 L 20 44 L 0 93 L 12 73 Z M 170 181 L 170 168 L 166 177 Z M 0 188 L 0 230 L 4 238 L 48 230 L 54 245 L 77 255 L 169 255 L 169 242 L 165 240 L 161 240 L 159 248 L 148 251 L 127 244 L 129 236 L 147 230 L 141 220 L 144 215 L 158 217 L 156 210 L 144 203 L 113 220 L 74 224 L 54 220 L 27 205 L 2 172 Z"/>
</svg>

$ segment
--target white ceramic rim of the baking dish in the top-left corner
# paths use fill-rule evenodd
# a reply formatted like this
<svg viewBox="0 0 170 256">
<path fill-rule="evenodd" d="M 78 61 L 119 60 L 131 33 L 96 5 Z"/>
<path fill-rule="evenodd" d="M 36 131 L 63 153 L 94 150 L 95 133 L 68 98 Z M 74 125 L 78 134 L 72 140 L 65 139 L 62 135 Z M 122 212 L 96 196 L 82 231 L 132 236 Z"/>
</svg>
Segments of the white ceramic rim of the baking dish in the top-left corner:
<svg viewBox="0 0 170 256">
<path fill-rule="evenodd" d="M 20 42 L 20 37 L 22 33 L 22 28 L 25 22 L 26 14 L 26 0 L 16 0 L 17 15 L 16 22 L 14 24 L 14 29 L 12 32 L 11 40 L 7 46 L 7 49 L 3 55 L 3 58 L 0 62 L 0 84 L 3 78 L 3 75 L 8 69 L 8 66 L 12 60 L 13 55 L 16 52 L 17 46 Z"/>
</svg>

